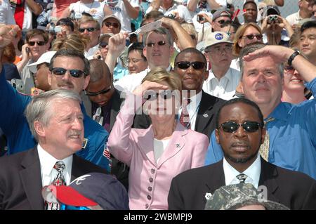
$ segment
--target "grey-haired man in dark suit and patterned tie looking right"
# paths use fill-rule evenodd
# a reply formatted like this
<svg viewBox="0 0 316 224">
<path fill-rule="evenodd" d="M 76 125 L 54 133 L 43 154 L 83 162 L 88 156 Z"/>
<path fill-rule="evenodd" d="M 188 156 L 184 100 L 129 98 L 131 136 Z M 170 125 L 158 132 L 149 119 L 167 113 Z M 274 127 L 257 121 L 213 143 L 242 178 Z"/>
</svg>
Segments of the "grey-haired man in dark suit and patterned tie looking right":
<svg viewBox="0 0 316 224">
<path fill-rule="evenodd" d="M 47 209 L 43 186 L 57 180 L 68 185 L 89 172 L 106 173 L 74 154 L 84 143 L 80 103 L 78 93 L 58 89 L 34 96 L 27 105 L 25 116 L 38 145 L 0 158 L 0 209 Z"/>
</svg>

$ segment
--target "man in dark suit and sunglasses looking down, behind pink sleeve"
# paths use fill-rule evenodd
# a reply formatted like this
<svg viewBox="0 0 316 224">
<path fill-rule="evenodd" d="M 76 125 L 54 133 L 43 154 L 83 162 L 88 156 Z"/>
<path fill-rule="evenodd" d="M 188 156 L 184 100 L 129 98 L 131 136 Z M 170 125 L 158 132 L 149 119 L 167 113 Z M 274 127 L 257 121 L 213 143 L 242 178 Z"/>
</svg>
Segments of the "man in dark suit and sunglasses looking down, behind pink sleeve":
<svg viewBox="0 0 316 224">
<path fill-rule="evenodd" d="M 112 74 L 103 60 L 92 59 L 90 62 L 90 81 L 86 95 L 91 100 L 92 118 L 111 132 L 121 109 L 124 96 L 113 86 Z M 108 152 L 107 156 L 110 156 Z M 129 167 L 111 155 L 111 173 L 129 189 Z"/>
</svg>

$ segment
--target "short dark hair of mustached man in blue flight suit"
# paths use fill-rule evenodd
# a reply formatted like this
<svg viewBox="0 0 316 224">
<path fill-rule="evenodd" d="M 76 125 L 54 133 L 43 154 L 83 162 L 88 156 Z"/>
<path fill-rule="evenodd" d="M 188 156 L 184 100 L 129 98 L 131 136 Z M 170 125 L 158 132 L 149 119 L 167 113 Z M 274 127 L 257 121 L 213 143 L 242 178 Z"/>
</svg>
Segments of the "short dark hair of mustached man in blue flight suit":
<svg viewBox="0 0 316 224">
<path fill-rule="evenodd" d="M 53 70 L 53 62 L 55 58 L 57 57 L 70 57 L 70 58 L 80 58 L 84 62 L 84 77 L 88 76 L 90 74 L 90 63 L 86 57 L 84 57 L 84 54 L 80 51 L 76 51 L 70 48 L 62 48 L 59 51 L 53 55 L 53 58 L 51 58 L 51 63 L 49 64 L 49 70 Z"/>
</svg>

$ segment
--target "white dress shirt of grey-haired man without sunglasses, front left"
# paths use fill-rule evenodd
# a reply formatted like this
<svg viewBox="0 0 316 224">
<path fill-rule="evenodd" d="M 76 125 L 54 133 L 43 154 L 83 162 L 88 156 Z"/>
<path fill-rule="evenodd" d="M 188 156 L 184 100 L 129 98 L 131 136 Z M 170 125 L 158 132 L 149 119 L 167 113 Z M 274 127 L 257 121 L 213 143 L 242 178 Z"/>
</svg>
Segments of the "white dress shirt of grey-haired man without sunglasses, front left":
<svg viewBox="0 0 316 224">
<path fill-rule="evenodd" d="M 51 154 L 46 152 L 41 145 L 37 145 L 37 152 L 39 153 L 39 162 L 41 163 L 41 183 L 42 186 L 51 185 L 54 178 L 57 176 L 58 171 L 54 169 L 54 165 L 58 161 L 62 161 L 65 164 L 63 171 L 66 184 L 70 184 L 72 175 L 72 155 L 65 159 L 55 159 Z"/>
</svg>

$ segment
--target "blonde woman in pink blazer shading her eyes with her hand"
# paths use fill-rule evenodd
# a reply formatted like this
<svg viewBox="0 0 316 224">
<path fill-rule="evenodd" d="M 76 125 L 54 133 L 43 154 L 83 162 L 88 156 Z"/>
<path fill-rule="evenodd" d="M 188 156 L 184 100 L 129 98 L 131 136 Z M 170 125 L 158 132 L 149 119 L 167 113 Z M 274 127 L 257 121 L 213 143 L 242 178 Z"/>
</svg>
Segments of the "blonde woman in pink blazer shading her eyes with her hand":
<svg viewBox="0 0 316 224">
<path fill-rule="evenodd" d="M 127 95 L 117 115 L 107 147 L 130 167 L 130 209 L 168 209 L 172 178 L 204 165 L 207 136 L 185 129 L 176 119 L 180 90 L 178 74 L 157 68 Z M 132 129 L 133 117 L 142 105 L 152 125 Z"/>
</svg>

